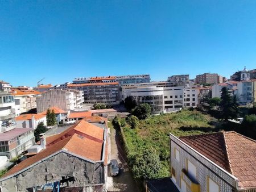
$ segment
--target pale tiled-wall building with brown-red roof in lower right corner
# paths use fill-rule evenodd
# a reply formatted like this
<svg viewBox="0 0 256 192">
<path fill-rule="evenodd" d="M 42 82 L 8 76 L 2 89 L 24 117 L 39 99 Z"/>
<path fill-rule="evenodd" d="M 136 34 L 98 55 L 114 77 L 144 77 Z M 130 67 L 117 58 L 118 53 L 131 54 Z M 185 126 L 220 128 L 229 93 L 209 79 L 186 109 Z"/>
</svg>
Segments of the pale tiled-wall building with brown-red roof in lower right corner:
<svg viewBox="0 0 256 192">
<path fill-rule="evenodd" d="M 170 133 L 170 145 L 171 181 L 179 191 L 256 191 L 255 140 L 233 131 L 182 137 Z"/>
</svg>

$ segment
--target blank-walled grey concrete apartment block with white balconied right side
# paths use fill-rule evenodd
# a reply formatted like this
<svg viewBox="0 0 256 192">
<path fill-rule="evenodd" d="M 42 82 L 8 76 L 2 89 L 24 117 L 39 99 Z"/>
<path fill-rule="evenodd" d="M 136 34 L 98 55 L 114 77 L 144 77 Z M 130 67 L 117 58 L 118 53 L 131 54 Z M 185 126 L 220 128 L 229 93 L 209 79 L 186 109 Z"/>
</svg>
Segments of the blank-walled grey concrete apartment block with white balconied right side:
<svg viewBox="0 0 256 192">
<path fill-rule="evenodd" d="M 81 108 L 83 102 L 83 92 L 75 89 L 52 89 L 36 96 L 38 113 L 50 107 L 58 107 L 64 111 L 75 110 L 75 108 Z"/>
</svg>

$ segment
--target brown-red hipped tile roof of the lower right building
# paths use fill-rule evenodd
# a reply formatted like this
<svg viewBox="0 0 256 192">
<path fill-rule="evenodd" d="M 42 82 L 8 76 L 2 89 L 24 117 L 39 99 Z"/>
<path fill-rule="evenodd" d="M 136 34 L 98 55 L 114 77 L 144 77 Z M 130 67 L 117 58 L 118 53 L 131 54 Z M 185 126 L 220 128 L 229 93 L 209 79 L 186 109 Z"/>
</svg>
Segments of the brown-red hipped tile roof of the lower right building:
<svg viewBox="0 0 256 192">
<path fill-rule="evenodd" d="M 238 187 L 256 187 L 256 141 L 234 131 L 179 137 L 238 178 Z"/>
</svg>

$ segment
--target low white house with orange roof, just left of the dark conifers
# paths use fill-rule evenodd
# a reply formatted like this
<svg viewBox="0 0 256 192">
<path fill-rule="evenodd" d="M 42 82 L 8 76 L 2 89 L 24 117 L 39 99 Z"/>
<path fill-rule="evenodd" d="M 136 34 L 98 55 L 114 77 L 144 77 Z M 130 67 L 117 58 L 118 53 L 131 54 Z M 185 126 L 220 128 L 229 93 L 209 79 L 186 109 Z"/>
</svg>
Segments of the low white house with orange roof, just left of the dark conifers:
<svg viewBox="0 0 256 192">
<path fill-rule="evenodd" d="M 40 122 L 47 126 L 46 115 L 44 114 L 24 114 L 15 118 L 17 127 L 33 128 L 34 130 Z"/>
</svg>

